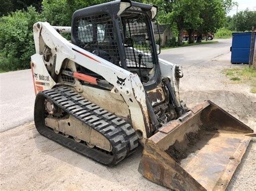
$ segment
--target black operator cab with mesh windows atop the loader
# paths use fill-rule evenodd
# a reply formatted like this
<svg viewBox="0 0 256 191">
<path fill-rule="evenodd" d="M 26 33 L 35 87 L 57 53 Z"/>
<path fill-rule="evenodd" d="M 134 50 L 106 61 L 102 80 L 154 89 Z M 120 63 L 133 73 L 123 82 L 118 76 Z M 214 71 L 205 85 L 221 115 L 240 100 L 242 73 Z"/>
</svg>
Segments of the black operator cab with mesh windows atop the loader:
<svg viewBox="0 0 256 191">
<path fill-rule="evenodd" d="M 77 10 L 72 17 L 71 41 L 101 58 L 136 73 L 145 88 L 160 80 L 152 19 L 157 6 L 114 1 Z M 93 74 L 89 69 L 82 72 Z M 99 77 L 99 76 L 98 76 Z"/>
</svg>

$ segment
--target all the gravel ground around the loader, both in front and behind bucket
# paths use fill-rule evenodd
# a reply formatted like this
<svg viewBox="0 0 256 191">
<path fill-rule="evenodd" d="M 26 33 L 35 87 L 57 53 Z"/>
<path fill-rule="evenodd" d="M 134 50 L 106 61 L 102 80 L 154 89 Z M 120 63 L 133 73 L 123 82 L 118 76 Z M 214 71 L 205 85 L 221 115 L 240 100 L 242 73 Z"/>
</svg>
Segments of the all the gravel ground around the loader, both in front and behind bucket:
<svg viewBox="0 0 256 191">
<path fill-rule="evenodd" d="M 188 107 L 211 100 L 255 131 L 256 96 L 246 84 L 230 83 L 221 73 L 223 68 L 241 67 L 231 66 L 229 59 L 230 54 L 225 53 L 198 64 L 185 64 L 180 96 Z M 118 166 L 109 168 L 39 135 L 33 122 L 1 132 L 0 144 L 1 190 L 166 189 L 138 173 L 142 147 Z M 255 158 L 256 140 L 253 138 L 227 190 L 256 190 Z"/>
</svg>

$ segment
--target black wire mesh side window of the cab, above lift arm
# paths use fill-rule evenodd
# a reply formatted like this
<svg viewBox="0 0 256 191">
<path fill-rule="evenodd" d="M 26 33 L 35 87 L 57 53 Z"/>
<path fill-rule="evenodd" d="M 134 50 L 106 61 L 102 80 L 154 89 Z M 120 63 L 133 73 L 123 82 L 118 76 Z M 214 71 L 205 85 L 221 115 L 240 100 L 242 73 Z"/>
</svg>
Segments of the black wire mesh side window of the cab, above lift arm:
<svg viewBox="0 0 256 191">
<path fill-rule="evenodd" d="M 76 20 L 78 46 L 120 66 L 112 19 L 106 13 Z"/>
</svg>

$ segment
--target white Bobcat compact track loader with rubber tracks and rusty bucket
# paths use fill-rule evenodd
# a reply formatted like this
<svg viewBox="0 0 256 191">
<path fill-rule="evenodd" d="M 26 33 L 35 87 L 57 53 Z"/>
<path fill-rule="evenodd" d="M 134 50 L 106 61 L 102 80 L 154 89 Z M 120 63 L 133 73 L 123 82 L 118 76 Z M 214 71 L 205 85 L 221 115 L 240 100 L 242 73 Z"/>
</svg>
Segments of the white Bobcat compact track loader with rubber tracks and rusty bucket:
<svg viewBox="0 0 256 191">
<path fill-rule="evenodd" d="M 108 166 L 140 143 L 147 179 L 177 190 L 224 190 L 253 131 L 211 101 L 192 109 L 180 101 L 183 74 L 158 58 L 156 15 L 154 5 L 114 1 L 77 10 L 71 27 L 36 23 L 36 128 Z"/>
</svg>

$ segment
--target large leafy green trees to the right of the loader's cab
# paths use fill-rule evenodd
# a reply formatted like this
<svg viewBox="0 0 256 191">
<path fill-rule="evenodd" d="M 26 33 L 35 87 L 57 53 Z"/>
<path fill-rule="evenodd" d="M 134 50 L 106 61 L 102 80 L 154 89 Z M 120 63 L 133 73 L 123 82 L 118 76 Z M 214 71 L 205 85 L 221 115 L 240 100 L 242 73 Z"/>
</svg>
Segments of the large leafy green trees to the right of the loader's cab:
<svg viewBox="0 0 256 191">
<path fill-rule="evenodd" d="M 198 41 L 203 34 L 216 32 L 224 24 L 225 12 L 232 6 L 232 0 L 164 0 L 149 1 L 159 6 L 159 22 L 170 24 L 178 33 L 178 45 L 183 44 L 183 31 L 188 32 L 188 42 L 194 43 L 193 33 Z"/>
</svg>

